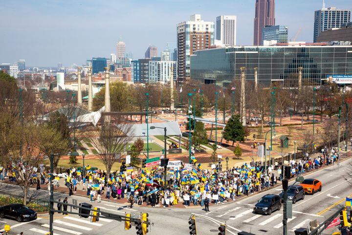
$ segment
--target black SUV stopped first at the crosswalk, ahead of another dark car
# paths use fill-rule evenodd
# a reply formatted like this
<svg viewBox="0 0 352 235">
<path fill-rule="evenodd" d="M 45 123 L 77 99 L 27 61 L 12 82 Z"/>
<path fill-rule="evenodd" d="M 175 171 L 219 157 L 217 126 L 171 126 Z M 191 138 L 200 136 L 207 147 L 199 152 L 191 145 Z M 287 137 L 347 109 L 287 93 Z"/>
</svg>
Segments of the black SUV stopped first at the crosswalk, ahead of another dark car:
<svg viewBox="0 0 352 235">
<path fill-rule="evenodd" d="M 253 212 L 270 215 L 273 211 L 281 209 L 281 198 L 279 195 L 266 194 L 254 205 Z"/>
</svg>

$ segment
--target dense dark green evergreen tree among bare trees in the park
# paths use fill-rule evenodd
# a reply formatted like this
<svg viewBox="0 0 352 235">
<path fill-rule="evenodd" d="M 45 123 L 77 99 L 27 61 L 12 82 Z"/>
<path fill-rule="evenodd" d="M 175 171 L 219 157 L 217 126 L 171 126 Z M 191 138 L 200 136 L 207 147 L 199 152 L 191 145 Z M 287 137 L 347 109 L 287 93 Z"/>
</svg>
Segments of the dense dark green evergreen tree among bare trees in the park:
<svg viewBox="0 0 352 235">
<path fill-rule="evenodd" d="M 244 141 L 244 128 L 242 126 L 240 115 L 232 116 L 226 123 L 223 138 L 226 141 Z"/>
</svg>

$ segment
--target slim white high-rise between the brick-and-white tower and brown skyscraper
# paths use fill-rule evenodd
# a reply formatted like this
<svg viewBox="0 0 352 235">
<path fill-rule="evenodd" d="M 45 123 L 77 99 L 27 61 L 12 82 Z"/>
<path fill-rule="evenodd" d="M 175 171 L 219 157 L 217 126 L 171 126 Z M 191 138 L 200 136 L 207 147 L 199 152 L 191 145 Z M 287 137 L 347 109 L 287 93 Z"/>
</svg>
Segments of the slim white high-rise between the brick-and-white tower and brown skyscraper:
<svg viewBox="0 0 352 235">
<path fill-rule="evenodd" d="M 216 39 L 224 46 L 236 45 L 236 16 L 218 16 L 216 19 Z"/>
</svg>

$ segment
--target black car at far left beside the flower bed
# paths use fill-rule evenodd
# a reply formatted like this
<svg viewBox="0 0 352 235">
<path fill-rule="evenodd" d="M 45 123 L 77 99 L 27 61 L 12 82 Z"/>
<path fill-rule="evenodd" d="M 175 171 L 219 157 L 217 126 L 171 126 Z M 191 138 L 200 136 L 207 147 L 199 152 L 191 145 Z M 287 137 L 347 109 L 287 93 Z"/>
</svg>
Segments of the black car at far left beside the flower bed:
<svg viewBox="0 0 352 235">
<path fill-rule="evenodd" d="M 30 210 L 23 204 L 9 204 L 0 207 L 0 217 L 10 217 L 16 219 L 18 222 L 24 220 L 32 220 L 37 218 L 37 212 Z"/>
</svg>

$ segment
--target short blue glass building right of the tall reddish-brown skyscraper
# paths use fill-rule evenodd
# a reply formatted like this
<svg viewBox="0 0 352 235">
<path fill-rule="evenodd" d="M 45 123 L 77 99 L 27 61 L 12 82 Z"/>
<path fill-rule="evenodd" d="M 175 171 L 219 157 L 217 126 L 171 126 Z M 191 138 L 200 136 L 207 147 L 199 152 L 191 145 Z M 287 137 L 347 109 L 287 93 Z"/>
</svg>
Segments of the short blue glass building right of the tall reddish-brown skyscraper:
<svg viewBox="0 0 352 235">
<path fill-rule="evenodd" d="M 288 42 L 288 27 L 284 25 L 266 25 L 263 29 L 262 45 L 264 41 L 275 40 L 277 43 Z"/>
</svg>

